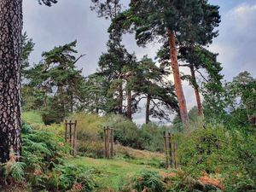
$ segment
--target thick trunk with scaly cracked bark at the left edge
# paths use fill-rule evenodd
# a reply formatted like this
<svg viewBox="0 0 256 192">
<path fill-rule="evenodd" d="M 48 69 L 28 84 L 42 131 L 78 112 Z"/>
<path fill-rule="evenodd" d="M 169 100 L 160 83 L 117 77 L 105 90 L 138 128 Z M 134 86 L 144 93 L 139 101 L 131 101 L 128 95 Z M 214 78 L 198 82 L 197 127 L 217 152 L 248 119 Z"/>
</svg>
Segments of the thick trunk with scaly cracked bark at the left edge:
<svg viewBox="0 0 256 192">
<path fill-rule="evenodd" d="M 20 155 L 22 0 L 0 1 L 0 161 Z"/>
</svg>

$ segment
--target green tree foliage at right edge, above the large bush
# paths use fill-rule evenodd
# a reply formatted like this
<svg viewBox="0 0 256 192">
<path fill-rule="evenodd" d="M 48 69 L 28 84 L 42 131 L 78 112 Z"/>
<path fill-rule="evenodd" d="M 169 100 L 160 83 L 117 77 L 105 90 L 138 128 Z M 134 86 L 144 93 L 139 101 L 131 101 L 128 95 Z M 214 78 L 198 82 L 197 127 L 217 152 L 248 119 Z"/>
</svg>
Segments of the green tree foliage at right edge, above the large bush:
<svg viewBox="0 0 256 192">
<path fill-rule="evenodd" d="M 206 84 L 204 111 L 207 122 L 222 123 L 230 130 L 251 130 L 256 119 L 255 82 L 250 73 L 243 72 L 220 90 Z"/>
</svg>

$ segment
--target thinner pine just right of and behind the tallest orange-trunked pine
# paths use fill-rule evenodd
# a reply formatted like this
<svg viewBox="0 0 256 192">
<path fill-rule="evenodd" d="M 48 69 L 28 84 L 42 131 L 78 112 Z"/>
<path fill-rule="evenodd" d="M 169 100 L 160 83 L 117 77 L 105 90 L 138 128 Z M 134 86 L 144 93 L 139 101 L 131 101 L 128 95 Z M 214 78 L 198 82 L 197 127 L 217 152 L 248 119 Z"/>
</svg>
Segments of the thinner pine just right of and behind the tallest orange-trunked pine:
<svg viewBox="0 0 256 192">
<path fill-rule="evenodd" d="M 164 44 L 157 54 L 159 62 L 163 67 L 169 66 L 169 47 L 168 44 Z M 196 73 L 198 73 L 203 82 L 212 79 L 216 83 L 220 83 L 223 76 L 220 74 L 222 67 L 217 61 L 218 54 L 213 54 L 206 48 L 200 45 L 188 45 L 184 44 L 179 48 L 179 67 L 188 67 L 190 74 L 184 74 L 181 78 L 188 80 L 189 84 L 192 85 L 195 91 L 195 99 L 197 103 L 198 115 L 203 116 L 203 108 L 200 96 L 200 84 L 197 82 Z M 200 70 L 204 70 L 204 74 Z"/>
</svg>

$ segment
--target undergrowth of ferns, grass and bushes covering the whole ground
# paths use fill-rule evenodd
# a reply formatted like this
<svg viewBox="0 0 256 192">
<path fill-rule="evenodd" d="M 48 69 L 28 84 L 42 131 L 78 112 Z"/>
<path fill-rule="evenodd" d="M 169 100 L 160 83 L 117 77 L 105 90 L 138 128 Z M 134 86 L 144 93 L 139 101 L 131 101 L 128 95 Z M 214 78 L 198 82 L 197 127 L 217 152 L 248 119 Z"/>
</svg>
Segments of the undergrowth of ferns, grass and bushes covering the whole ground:
<svg viewBox="0 0 256 192">
<path fill-rule="evenodd" d="M 79 155 L 87 157 L 73 159 L 63 141 L 63 125 L 44 125 L 39 114 L 26 115 L 20 161 L 11 154 L 1 165 L 3 191 L 256 190 L 256 135 L 251 127 L 230 131 L 223 125 L 195 125 L 189 133 L 176 134 L 179 168 L 166 171 L 165 157 L 156 151 L 162 151 L 162 131 L 168 127 L 138 128 L 119 116 L 76 114 L 70 118 L 79 120 Z M 90 159 L 102 158 L 104 125 L 115 129 L 115 157 Z M 152 152 L 123 146 L 128 141 Z"/>
</svg>

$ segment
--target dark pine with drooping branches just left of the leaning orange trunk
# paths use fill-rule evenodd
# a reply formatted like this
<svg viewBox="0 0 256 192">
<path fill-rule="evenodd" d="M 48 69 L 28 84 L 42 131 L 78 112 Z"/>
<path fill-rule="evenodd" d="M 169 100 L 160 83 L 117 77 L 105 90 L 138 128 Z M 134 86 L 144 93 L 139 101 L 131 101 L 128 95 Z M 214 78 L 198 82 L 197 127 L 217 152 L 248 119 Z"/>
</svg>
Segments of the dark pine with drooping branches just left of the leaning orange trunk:
<svg viewBox="0 0 256 192">
<path fill-rule="evenodd" d="M 166 80 L 166 73 L 157 67 L 152 59 L 144 56 L 132 70 L 129 86 L 137 96 L 136 105 L 146 99 L 146 124 L 152 116 L 158 119 L 170 119 L 170 114 L 177 112 L 177 98 L 173 85 Z M 137 107 L 136 107 L 137 108 Z"/>
</svg>

